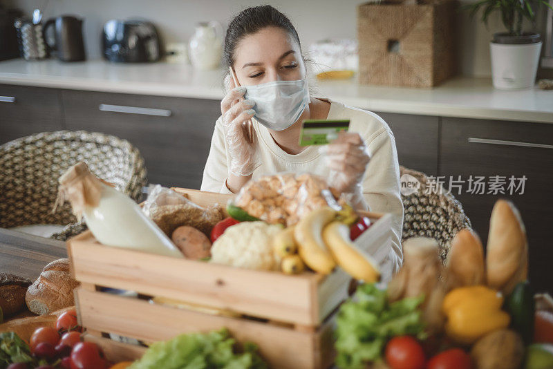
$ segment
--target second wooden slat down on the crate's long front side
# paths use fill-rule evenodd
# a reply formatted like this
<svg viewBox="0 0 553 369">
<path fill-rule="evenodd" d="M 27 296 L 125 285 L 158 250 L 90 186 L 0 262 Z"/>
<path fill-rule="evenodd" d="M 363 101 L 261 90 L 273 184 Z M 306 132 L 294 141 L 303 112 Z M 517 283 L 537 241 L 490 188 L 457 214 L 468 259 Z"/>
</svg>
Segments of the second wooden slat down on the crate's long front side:
<svg viewBox="0 0 553 369">
<path fill-rule="evenodd" d="M 238 341 L 256 343 L 272 368 L 328 368 L 334 357 L 332 320 L 316 333 L 308 333 L 247 319 L 169 308 L 80 287 L 77 295 L 84 326 L 101 332 L 158 341 L 182 333 L 226 327 Z"/>
</svg>

